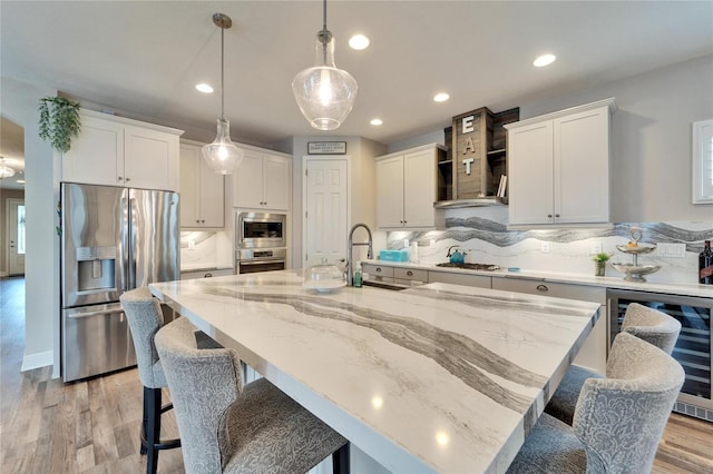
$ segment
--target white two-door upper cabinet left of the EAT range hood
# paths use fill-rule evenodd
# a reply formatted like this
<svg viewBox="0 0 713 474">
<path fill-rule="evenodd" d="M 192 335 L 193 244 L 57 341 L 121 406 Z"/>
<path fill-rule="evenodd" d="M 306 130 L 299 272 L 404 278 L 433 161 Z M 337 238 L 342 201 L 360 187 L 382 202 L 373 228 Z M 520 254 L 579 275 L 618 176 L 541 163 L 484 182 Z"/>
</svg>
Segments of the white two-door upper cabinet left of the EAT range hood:
<svg viewBox="0 0 713 474">
<path fill-rule="evenodd" d="M 437 197 L 437 164 L 445 156 L 432 144 L 375 158 L 377 227 L 432 228 Z"/>
</svg>

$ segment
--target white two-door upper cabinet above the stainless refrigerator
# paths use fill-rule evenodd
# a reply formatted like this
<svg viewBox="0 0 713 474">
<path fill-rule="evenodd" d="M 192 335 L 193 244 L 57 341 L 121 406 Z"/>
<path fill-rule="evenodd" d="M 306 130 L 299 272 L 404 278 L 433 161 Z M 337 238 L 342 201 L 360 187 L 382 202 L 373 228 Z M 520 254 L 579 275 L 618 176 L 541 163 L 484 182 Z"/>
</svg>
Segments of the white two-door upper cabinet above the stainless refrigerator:
<svg viewBox="0 0 713 474">
<path fill-rule="evenodd" d="M 177 191 L 182 130 L 81 110 L 81 131 L 62 156 L 62 180 Z"/>
</svg>

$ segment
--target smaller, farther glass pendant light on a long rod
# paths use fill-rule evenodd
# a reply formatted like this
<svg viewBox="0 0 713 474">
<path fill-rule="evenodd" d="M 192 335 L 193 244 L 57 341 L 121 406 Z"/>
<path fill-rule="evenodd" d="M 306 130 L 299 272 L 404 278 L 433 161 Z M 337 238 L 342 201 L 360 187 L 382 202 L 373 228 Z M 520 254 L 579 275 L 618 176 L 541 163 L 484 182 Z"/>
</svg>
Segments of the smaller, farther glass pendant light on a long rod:
<svg viewBox="0 0 713 474">
<path fill-rule="evenodd" d="M 229 175 L 243 162 L 243 150 L 231 141 L 231 122 L 225 118 L 225 30 L 233 26 L 231 17 L 223 13 L 215 13 L 213 22 L 221 29 L 221 118 L 218 122 L 218 135 L 212 144 L 202 148 L 203 158 L 211 169 L 221 175 Z"/>
</svg>

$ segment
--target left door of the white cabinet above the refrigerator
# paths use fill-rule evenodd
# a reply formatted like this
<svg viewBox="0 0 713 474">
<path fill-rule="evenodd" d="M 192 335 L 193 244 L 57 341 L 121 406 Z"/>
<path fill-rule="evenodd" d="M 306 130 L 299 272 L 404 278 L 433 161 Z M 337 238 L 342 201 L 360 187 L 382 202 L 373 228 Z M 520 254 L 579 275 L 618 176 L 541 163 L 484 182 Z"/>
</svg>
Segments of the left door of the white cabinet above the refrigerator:
<svg viewBox="0 0 713 474">
<path fill-rule="evenodd" d="M 81 134 L 62 156 L 62 180 L 124 186 L 124 126 L 81 116 Z"/>
</svg>

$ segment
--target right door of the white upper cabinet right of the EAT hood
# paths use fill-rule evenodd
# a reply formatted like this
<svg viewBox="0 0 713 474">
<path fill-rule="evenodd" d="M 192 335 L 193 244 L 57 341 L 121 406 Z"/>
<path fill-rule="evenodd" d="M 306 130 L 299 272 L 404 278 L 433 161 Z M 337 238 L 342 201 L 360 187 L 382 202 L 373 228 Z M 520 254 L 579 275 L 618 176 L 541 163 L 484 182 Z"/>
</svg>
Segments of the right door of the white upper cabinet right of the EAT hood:
<svg viewBox="0 0 713 474">
<path fill-rule="evenodd" d="M 554 137 L 556 221 L 608 223 L 608 107 L 555 119 Z"/>
</svg>

